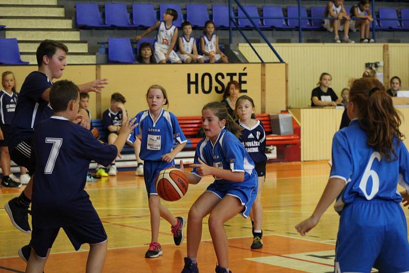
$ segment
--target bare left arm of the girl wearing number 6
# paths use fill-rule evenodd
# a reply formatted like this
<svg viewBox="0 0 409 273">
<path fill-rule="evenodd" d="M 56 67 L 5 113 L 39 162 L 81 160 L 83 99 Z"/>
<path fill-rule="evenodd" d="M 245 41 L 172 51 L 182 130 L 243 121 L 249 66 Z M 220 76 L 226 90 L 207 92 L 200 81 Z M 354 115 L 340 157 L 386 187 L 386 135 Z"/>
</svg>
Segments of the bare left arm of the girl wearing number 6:
<svg viewBox="0 0 409 273">
<path fill-rule="evenodd" d="M 312 215 L 296 225 L 296 230 L 305 236 L 317 223 L 320 221 L 323 213 L 328 209 L 330 204 L 335 200 L 335 198 L 342 192 L 345 187 L 345 180 L 340 178 L 330 178 L 328 180 L 327 186 L 320 198 L 320 201 L 315 207 Z"/>
</svg>

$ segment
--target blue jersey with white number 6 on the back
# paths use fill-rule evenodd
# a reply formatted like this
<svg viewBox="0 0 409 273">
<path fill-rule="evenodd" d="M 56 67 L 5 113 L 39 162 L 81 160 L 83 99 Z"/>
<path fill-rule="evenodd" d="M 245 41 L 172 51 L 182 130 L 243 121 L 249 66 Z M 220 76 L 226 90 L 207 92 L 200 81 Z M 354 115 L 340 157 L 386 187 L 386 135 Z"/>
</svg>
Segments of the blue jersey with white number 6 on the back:
<svg viewBox="0 0 409 273">
<path fill-rule="evenodd" d="M 330 178 L 340 178 L 346 183 L 335 203 L 337 212 L 356 198 L 402 201 L 397 185 L 409 190 L 409 153 L 397 138 L 394 149 L 396 156 L 391 153 L 391 160 L 387 161 L 368 145 L 366 132 L 357 119 L 335 133 Z"/>
</svg>

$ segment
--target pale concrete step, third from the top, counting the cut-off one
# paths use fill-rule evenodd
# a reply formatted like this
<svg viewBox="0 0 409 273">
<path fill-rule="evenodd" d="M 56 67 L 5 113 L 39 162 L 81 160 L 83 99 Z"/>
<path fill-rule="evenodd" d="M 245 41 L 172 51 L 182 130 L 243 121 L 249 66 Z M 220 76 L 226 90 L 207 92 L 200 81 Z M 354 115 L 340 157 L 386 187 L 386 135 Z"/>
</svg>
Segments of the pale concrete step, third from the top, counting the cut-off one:
<svg viewBox="0 0 409 273">
<path fill-rule="evenodd" d="M 73 21 L 65 17 L 0 17 L 0 25 L 13 29 L 72 29 Z"/>
</svg>

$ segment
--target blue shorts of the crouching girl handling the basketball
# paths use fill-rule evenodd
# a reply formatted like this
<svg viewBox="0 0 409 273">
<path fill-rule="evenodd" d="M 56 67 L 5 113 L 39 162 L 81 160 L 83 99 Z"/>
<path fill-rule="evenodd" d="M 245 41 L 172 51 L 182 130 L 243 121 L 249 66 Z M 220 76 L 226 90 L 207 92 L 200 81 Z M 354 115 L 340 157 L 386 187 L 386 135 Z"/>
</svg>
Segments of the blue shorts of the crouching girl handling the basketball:
<svg viewBox="0 0 409 273">
<path fill-rule="evenodd" d="M 242 206 L 244 206 L 243 211 L 240 213 L 241 216 L 247 218 L 252 210 L 254 200 L 257 197 L 258 190 L 258 177 L 257 173 L 253 170 L 253 175 L 247 181 L 237 182 L 237 183 L 217 183 L 215 180 L 206 189 L 207 192 L 212 192 L 216 194 L 220 199 L 225 195 L 231 195 L 240 200 Z"/>
</svg>

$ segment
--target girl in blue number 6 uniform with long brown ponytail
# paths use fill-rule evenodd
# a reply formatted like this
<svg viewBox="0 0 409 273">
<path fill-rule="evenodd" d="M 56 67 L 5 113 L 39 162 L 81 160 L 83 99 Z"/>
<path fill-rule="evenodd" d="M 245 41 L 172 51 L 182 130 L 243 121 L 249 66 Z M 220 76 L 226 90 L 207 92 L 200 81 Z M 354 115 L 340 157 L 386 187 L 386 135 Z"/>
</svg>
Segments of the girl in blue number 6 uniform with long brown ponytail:
<svg viewBox="0 0 409 273">
<path fill-rule="evenodd" d="M 399 204 L 409 200 L 401 120 L 383 85 L 372 78 L 352 82 L 347 111 L 351 123 L 334 135 L 327 187 L 296 229 L 305 236 L 336 198 L 335 272 L 409 271 L 406 219 Z M 405 190 L 399 193 L 398 184 Z"/>
</svg>

